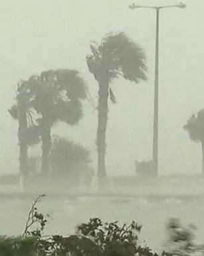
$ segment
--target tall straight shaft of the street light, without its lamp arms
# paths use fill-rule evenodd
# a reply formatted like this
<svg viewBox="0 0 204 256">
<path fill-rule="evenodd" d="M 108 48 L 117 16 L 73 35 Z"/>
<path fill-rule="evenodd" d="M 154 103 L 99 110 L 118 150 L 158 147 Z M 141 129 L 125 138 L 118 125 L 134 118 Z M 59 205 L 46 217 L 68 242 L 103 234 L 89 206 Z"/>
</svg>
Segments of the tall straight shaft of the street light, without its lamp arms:
<svg viewBox="0 0 204 256">
<path fill-rule="evenodd" d="M 153 115 L 153 171 L 158 175 L 158 106 L 159 105 L 159 8 L 156 8 L 155 85 Z"/>
</svg>

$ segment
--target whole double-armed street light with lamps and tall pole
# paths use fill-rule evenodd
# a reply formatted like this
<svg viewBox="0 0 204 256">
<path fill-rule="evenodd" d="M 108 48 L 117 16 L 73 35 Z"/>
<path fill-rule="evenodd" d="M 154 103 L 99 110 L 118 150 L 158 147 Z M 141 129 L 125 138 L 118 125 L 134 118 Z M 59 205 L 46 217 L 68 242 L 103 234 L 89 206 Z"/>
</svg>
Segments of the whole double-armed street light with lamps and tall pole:
<svg viewBox="0 0 204 256">
<path fill-rule="evenodd" d="M 159 115 L 159 11 L 160 9 L 179 7 L 185 8 L 184 3 L 179 5 L 163 5 L 163 6 L 143 6 L 130 5 L 130 9 L 146 8 L 155 9 L 156 11 L 156 29 L 155 29 L 155 81 L 154 81 L 154 111 L 153 111 L 153 173 L 158 175 L 158 115 Z"/>
</svg>

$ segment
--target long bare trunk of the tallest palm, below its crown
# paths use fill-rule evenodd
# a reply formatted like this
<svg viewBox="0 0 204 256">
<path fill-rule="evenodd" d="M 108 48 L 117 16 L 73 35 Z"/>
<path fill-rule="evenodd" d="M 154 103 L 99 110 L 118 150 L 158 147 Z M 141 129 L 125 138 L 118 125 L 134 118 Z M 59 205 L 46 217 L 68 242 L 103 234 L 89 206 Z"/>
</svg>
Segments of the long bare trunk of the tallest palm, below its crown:
<svg viewBox="0 0 204 256">
<path fill-rule="evenodd" d="M 108 74 L 102 75 L 98 91 L 98 177 L 106 177 L 106 127 L 108 120 Z"/>
</svg>

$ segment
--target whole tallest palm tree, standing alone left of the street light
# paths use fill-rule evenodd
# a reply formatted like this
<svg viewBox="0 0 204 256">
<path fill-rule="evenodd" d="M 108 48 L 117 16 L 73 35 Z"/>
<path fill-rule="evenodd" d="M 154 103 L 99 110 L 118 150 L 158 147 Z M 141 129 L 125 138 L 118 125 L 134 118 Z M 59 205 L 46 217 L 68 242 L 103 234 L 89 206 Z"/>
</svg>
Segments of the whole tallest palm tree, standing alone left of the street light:
<svg viewBox="0 0 204 256">
<path fill-rule="evenodd" d="M 109 33 L 101 41 L 90 44 L 91 54 L 86 57 L 88 69 L 98 82 L 98 176 L 106 177 L 106 126 L 108 119 L 108 95 L 115 102 L 110 88 L 112 80 L 124 77 L 138 83 L 146 80 L 146 61 L 142 49 L 124 33 Z"/>
</svg>

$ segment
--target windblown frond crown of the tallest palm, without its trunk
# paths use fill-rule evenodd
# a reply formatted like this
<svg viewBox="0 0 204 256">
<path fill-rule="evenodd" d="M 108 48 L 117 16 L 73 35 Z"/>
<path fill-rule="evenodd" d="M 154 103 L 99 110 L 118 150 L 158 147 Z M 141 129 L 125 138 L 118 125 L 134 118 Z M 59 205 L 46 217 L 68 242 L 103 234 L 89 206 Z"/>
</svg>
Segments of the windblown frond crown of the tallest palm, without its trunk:
<svg viewBox="0 0 204 256">
<path fill-rule="evenodd" d="M 91 55 L 86 57 L 91 73 L 98 77 L 102 69 L 107 69 L 110 79 L 123 76 L 138 83 L 146 80 L 146 57 L 142 49 L 125 33 L 108 33 L 96 48 L 91 43 Z"/>
</svg>

